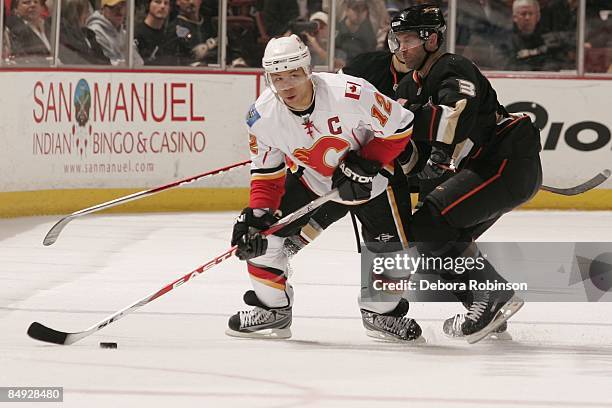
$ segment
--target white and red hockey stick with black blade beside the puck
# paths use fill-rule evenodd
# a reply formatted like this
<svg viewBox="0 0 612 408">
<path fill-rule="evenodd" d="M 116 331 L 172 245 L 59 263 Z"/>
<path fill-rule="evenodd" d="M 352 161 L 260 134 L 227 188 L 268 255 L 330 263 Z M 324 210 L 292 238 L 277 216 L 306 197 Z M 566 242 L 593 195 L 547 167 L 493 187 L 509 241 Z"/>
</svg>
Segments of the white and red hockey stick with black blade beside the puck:
<svg viewBox="0 0 612 408">
<path fill-rule="evenodd" d="M 279 229 L 286 227 L 288 224 L 296 221 L 297 219 L 303 217 L 304 215 L 308 214 L 309 212 L 315 210 L 316 208 L 318 208 L 319 206 L 323 205 L 324 203 L 336 199 L 338 198 L 338 191 L 337 190 L 332 190 L 329 193 L 327 193 L 324 196 L 321 196 L 319 198 L 317 198 L 316 200 L 311 201 L 310 203 L 306 204 L 305 206 L 303 206 L 302 208 L 299 208 L 298 210 L 294 211 L 291 214 L 288 214 L 287 216 L 281 218 L 277 223 L 275 223 L 274 225 L 272 225 L 270 228 L 268 228 L 267 230 L 263 231 L 264 235 L 270 235 L 275 233 L 276 231 L 278 231 Z M 235 252 L 236 252 L 236 246 L 231 247 L 229 250 L 225 251 L 224 253 L 222 253 L 221 255 L 213 258 L 212 260 L 206 262 L 203 265 L 198 266 L 197 268 L 195 268 L 193 271 L 187 273 L 186 275 L 180 277 L 179 279 L 165 285 L 163 288 L 161 288 L 160 290 L 132 303 L 131 305 L 127 306 L 124 309 L 121 309 L 120 311 L 113 313 L 112 315 L 102 319 L 101 321 L 99 321 L 98 323 L 94 324 L 93 326 L 83 330 L 83 331 L 79 331 L 79 332 L 74 332 L 74 333 L 67 333 L 67 332 L 62 332 L 62 331 L 58 331 L 58 330 L 54 330 L 51 329 L 43 324 L 40 324 L 38 322 L 34 322 L 30 325 L 30 327 L 28 328 L 28 336 L 30 336 L 33 339 L 36 340 L 40 340 L 40 341 L 44 341 L 47 343 L 55 343 L 55 344 L 72 344 L 75 343 L 95 332 L 97 332 L 98 330 L 103 329 L 104 327 L 108 326 L 109 324 L 116 322 L 117 320 L 121 319 L 122 317 L 124 317 L 125 315 L 135 312 L 137 309 L 140 309 L 141 307 L 143 307 L 144 305 L 154 301 L 155 299 L 157 299 L 158 297 L 170 292 L 172 289 L 184 284 L 185 282 L 191 280 L 192 278 L 195 278 L 196 276 L 198 276 L 199 274 L 203 273 L 204 271 L 207 271 L 208 269 L 211 269 L 212 267 L 220 264 L 221 262 L 227 260 L 228 258 L 230 258 Z"/>
</svg>

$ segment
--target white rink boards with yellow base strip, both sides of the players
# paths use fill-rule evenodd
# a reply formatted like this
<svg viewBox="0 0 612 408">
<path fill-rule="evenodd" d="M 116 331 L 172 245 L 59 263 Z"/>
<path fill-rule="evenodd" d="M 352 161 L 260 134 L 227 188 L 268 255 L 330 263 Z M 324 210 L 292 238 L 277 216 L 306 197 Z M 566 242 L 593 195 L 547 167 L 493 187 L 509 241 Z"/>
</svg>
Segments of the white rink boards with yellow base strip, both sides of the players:
<svg viewBox="0 0 612 408">
<path fill-rule="evenodd" d="M 612 81 L 492 81 L 502 103 L 541 126 L 545 184 L 612 166 Z M 262 86 L 246 72 L 0 71 L 0 216 L 72 212 L 244 160 L 244 113 Z M 243 168 L 118 210 L 240 208 L 248 180 Z M 611 189 L 542 193 L 529 208 L 610 209 Z"/>
</svg>

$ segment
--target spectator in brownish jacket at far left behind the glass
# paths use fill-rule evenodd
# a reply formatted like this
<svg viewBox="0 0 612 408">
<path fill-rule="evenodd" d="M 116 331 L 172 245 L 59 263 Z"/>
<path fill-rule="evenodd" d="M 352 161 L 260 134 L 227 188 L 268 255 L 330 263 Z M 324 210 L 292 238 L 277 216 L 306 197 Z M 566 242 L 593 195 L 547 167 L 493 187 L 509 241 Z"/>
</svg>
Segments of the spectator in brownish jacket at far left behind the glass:
<svg viewBox="0 0 612 408">
<path fill-rule="evenodd" d="M 13 0 L 6 19 L 10 58 L 19 62 L 43 62 L 51 57 L 50 25 L 42 18 L 40 0 Z"/>
</svg>

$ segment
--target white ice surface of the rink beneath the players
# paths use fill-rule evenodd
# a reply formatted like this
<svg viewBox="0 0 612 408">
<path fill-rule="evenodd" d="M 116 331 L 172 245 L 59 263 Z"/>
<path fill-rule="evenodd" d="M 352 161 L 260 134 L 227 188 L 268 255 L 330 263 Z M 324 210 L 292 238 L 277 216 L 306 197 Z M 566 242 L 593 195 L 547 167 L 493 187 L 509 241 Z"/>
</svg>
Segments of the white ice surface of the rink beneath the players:
<svg viewBox="0 0 612 408">
<path fill-rule="evenodd" d="M 529 303 L 514 341 L 476 345 L 442 335 L 460 305 L 415 303 L 428 344 L 365 336 L 348 219 L 294 258 L 290 340 L 224 335 L 249 289 L 237 259 L 74 345 L 26 336 L 83 330 L 182 276 L 228 248 L 235 216 L 84 217 L 51 247 L 56 217 L 0 220 L 0 386 L 63 386 L 61 407 L 612 407 L 609 303 Z M 483 240 L 612 241 L 612 213 L 516 212 Z"/>
</svg>

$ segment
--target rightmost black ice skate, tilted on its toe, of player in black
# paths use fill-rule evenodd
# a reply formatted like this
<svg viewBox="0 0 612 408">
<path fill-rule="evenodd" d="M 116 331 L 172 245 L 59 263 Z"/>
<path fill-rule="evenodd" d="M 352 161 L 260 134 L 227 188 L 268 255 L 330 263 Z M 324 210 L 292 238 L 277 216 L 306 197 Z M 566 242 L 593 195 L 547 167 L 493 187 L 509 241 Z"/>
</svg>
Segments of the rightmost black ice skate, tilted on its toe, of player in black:
<svg viewBox="0 0 612 408">
<path fill-rule="evenodd" d="M 476 343 L 504 324 L 523 304 L 514 291 L 474 292 L 474 300 L 461 323 L 461 332 L 468 343 Z"/>
</svg>

